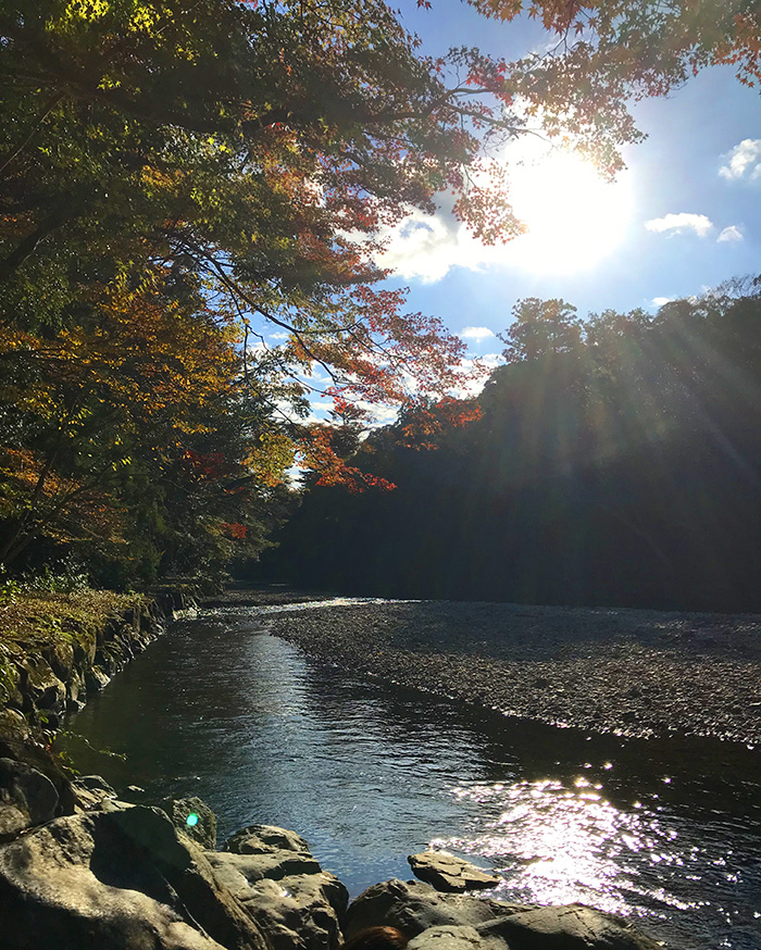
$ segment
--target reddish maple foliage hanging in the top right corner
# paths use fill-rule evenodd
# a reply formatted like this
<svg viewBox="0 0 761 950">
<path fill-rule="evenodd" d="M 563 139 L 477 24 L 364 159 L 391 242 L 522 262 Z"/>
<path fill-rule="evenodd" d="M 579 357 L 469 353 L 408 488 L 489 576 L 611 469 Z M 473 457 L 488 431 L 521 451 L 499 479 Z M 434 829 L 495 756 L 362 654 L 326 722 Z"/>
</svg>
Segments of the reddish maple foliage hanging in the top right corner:
<svg viewBox="0 0 761 950">
<path fill-rule="evenodd" d="M 664 96 L 712 65 L 761 83 L 761 5 L 756 0 L 469 0 L 486 16 L 540 18 L 558 43 L 510 64 L 508 82 L 532 110 L 562 123 L 569 108 L 598 110 L 602 126 L 631 98 Z"/>
</svg>

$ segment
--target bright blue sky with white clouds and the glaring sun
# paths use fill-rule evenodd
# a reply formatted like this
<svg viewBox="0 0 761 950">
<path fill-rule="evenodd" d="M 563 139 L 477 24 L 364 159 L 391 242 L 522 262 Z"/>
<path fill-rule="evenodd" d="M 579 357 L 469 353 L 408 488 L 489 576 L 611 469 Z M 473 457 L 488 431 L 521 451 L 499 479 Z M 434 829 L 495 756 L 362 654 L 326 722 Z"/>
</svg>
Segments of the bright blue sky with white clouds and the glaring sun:
<svg viewBox="0 0 761 950">
<path fill-rule="evenodd" d="M 461 0 L 432 2 L 426 11 L 406 0 L 401 12 L 424 53 L 474 46 L 511 60 L 548 46 L 536 22 L 501 24 Z M 529 226 L 538 214 L 536 235 L 484 249 L 446 208 L 433 220 L 416 214 L 387 235 L 383 263 L 398 268 L 389 286 L 409 287 L 410 310 L 441 318 L 489 366 L 502 349 L 494 334 L 523 298 L 562 297 L 583 317 L 607 309 L 654 312 L 668 299 L 761 273 L 759 91 L 741 86 L 732 68 L 715 67 L 633 112 L 648 138 L 624 150 L 627 168 L 614 185 L 562 163 L 516 164 L 526 160 L 526 137 L 506 158 L 515 171 L 516 208 L 525 204 Z M 308 382 L 319 388 L 327 380 L 315 373 Z M 330 409 L 316 393 L 312 405 L 321 418 Z M 395 414 L 380 407 L 377 417 Z"/>
</svg>

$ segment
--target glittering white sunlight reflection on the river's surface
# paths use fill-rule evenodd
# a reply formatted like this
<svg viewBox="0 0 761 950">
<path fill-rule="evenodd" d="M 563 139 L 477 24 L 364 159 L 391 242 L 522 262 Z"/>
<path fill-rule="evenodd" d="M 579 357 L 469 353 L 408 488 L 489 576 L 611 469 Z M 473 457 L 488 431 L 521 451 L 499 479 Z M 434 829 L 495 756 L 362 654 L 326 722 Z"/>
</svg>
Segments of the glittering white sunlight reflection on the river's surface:
<svg viewBox="0 0 761 950">
<path fill-rule="evenodd" d="M 472 835 L 431 845 L 487 859 L 503 877 L 490 896 L 511 901 L 581 902 L 644 916 L 704 907 L 706 901 L 653 886 L 645 868 L 658 866 L 663 879 L 664 867 L 678 867 L 682 882 L 700 879 L 710 861 L 707 850 L 694 837 L 683 845 L 678 830 L 661 821 L 659 807 L 635 802 L 624 811 L 601 789 L 584 776 L 570 784 L 546 778 L 454 787 L 456 799 L 478 804 L 479 818 Z M 728 883 L 732 876 L 726 875 Z"/>
</svg>

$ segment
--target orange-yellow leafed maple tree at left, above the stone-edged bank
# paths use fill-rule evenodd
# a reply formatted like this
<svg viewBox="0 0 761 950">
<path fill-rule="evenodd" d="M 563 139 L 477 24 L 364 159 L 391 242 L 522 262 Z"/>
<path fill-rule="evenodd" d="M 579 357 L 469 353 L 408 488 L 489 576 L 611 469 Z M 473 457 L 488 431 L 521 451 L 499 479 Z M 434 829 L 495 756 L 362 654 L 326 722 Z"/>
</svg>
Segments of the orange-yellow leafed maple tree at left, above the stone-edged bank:
<svg viewBox="0 0 761 950">
<path fill-rule="evenodd" d="M 135 548 L 188 568 L 261 541 L 258 508 L 292 455 L 277 471 L 263 451 L 270 410 L 241 385 L 236 329 L 167 299 L 167 277 L 90 288 L 54 335 L 0 332 L 3 561 L 47 537 L 139 574 Z"/>
</svg>

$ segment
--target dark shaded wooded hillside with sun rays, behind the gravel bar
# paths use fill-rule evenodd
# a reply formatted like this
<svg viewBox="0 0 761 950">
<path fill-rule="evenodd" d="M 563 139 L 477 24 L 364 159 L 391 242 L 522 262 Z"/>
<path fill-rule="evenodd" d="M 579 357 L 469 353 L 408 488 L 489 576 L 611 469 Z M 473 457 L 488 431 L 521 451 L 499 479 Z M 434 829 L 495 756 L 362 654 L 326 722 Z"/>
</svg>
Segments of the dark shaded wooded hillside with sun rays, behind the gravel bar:
<svg viewBox="0 0 761 950">
<path fill-rule="evenodd" d="M 581 321 L 563 300 L 527 299 L 512 316 L 475 421 L 436 443 L 414 411 L 374 432 L 354 464 L 396 489 L 311 487 L 267 576 L 402 598 L 758 611 L 759 280 L 654 314 Z"/>
</svg>

